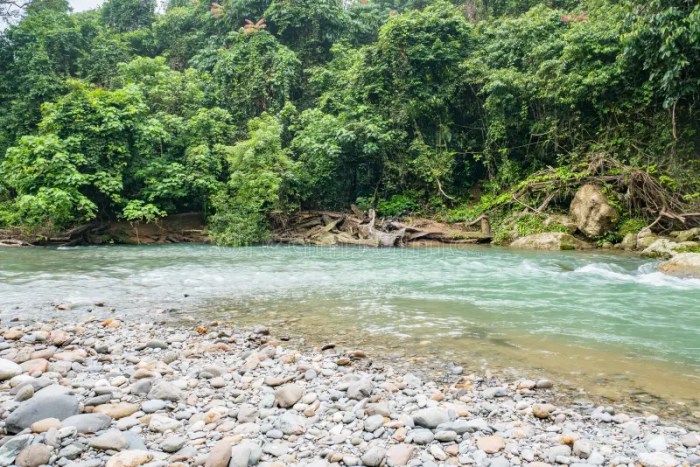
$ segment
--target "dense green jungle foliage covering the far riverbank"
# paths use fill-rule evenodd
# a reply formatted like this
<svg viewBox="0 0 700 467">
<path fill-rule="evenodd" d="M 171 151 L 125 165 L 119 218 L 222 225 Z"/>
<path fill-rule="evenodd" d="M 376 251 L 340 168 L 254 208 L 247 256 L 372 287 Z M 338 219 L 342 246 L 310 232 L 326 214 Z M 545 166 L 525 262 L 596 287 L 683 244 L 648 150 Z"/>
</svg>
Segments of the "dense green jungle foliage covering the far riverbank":
<svg viewBox="0 0 700 467">
<path fill-rule="evenodd" d="M 593 154 L 700 196 L 695 1 L 33 0 L 11 23 L 0 227 L 200 211 L 246 244 L 302 208 L 460 221 Z"/>
</svg>

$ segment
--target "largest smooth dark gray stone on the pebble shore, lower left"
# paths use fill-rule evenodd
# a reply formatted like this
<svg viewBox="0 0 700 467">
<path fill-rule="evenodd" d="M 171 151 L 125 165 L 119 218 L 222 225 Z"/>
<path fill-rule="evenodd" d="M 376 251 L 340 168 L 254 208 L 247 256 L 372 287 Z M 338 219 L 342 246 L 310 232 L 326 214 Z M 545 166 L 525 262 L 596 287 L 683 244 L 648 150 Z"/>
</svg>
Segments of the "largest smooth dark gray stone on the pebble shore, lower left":
<svg viewBox="0 0 700 467">
<path fill-rule="evenodd" d="M 48 388 L 42 389 L 28 401 L 22 402 L 7 417 L 5 426 L 9 433 L 18 433 L 29 428 L 32 423 L 45 418 L 64 420 L 78 413 L 78 399 L 52 391 L 42 393 L 46 389 Z"/>
</svg>

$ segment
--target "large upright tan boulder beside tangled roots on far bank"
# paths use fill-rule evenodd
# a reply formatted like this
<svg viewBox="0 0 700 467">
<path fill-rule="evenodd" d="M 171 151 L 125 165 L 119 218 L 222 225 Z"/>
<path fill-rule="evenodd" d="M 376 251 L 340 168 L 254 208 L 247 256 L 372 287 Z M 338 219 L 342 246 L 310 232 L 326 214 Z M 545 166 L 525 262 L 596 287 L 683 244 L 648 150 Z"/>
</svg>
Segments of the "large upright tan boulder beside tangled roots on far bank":
<svg viewBox="0 0 700 467">
<path fill-rule="evenodd" d="M 569 210 L 578 229 L 589 238 L 605 235 L 620 219 L 617 209 L 596 185 L 582 186 L 576 192 Z"/>
</svg>

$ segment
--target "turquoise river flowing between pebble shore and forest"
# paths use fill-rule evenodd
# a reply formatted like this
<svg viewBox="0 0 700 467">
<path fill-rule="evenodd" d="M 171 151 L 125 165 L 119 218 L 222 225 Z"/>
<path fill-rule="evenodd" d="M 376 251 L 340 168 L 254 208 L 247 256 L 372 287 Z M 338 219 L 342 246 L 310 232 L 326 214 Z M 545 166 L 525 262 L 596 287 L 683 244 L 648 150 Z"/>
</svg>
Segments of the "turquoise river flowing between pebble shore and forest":
<svg viewBox="0 0 700 467">
<path fill-rule="evenodd" d="M 72 311 L 55 311 L 64 303 Z M 700 417 L 700 280 L 666 276 L 631 256 L 490 247 L 0 249 L 3 317 L 110 307 L 132 319 L 166 309 L 175 319 L 267 323 L 415 361 L 515 368 L 640 410 Z"/>
</svg>

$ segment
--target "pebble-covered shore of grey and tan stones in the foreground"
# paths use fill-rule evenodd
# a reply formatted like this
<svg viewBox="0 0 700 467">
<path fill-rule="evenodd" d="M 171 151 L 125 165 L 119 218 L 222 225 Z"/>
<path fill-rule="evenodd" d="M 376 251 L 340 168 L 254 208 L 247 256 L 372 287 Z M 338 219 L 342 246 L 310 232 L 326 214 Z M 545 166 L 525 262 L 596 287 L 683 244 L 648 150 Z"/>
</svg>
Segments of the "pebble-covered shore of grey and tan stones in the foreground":
<svg viewBox="0 0 700 467">
<path fill-rule="evenodd" d="M 547 380 L 361 350 L 301 352 L 265 328 L 4 323 L 0 465 L 700 465 L 700 435 L 650 414 L 552 404 Z"/>
</svg>

